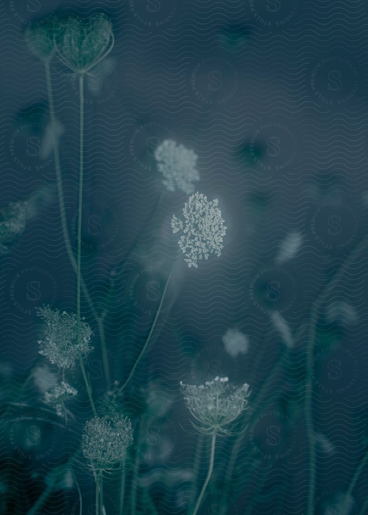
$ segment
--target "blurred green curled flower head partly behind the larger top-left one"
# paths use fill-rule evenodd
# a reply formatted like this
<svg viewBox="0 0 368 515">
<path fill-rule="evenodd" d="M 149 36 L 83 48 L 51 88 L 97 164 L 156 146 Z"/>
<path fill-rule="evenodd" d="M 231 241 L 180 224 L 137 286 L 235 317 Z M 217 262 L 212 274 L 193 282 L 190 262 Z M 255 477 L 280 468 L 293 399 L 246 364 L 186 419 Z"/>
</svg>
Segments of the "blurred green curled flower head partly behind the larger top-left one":
<svg viewBox="0 0 368 515">
<path fill-rule="evenodd" d="M 27 27 L 24 37 L 31 52 L 39 59 L 49 61 L 55 52 L 55 36 L 58 27 L 58 18 L 55 16 L 42 25 Z"/>
</svg>

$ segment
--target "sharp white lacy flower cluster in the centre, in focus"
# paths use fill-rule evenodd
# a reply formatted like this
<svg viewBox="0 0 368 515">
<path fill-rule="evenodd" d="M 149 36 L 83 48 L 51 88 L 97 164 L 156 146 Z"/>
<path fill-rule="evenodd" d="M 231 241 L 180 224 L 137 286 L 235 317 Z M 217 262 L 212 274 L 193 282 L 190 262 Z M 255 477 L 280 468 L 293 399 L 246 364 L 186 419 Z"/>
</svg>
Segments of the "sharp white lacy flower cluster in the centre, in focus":
<svg viewBox="0 0 368 515">
<path fill-rule="evenodd" d="M 197 261 L 203 256 L 208 259 L 213 252 L 221 255 L 227 227 L 224 226 L 225 220 L 221 217 L 218 203 L 218 199 L 208 201 L 203 193 L 196 192 L 185 204 L 184 219 L 173 215 L 171 227 L 174 234 L 183 231 L 178 244 L 186 255 L 189 268 L 198 268 Z"/>
</svg>

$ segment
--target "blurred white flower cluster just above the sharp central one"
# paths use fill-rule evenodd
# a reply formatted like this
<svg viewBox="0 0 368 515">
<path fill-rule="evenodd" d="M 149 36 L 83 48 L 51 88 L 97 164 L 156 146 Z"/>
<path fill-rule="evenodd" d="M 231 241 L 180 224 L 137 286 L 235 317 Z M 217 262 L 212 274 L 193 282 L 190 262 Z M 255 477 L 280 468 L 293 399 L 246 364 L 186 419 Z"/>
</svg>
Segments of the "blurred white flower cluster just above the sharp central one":
<svg viewBox="0 0 368 515">
<path fill-rule="evenodd" d="M 164 176 L 163 184 L 169 191 L 194 192 L 194 182 L 199 181 L 196 168 L 198 156 L 194 150 L 177 145 L 174 140 L 165 140 L 157 148 L 158 169 Z"/>
</svg>

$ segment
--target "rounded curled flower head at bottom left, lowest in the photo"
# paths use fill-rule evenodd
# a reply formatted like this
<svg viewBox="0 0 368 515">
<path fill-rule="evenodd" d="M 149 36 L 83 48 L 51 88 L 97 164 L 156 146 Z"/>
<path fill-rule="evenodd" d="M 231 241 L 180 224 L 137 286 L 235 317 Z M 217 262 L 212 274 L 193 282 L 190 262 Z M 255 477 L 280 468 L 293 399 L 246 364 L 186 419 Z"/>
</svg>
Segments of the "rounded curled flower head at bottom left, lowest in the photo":
<svg viewBox="0 0 368 515">
<path fill-rule="evenodd" d="M 82 452 L 88 460 L 87 468 L 110 472 L 119 467 L 132 441 L 129 419 L 115 417 L 111 425 L 111 421 L 93 417 L 86 422 L 82 435 Z"/>
</svg>

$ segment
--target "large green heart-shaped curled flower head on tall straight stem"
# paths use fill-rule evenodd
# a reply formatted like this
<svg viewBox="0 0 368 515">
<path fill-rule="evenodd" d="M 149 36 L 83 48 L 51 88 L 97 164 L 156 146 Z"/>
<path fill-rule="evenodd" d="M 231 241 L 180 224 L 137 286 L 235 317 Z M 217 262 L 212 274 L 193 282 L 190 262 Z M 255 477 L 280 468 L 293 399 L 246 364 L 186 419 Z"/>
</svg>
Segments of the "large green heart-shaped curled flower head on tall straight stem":
<svg viewBox="0 0 368 515">
<path fill-rule="evenodd" d="M 60 60 L 75 73 L 87 73 L 106 57 L 114 44 L 111 21 L 102 13 L 82 20 L 68 16 L 61 20 L 55 35 Z"/>
</svg>

